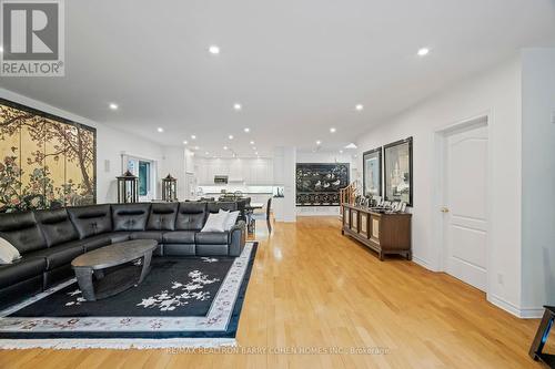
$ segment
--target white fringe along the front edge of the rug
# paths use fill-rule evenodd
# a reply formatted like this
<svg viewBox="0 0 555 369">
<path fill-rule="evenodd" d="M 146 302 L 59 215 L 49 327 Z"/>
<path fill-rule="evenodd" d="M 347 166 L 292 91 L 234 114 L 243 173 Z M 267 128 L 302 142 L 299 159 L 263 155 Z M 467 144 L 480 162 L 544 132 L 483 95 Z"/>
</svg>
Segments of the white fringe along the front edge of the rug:
<svg viewBox="0 0 555 369">
<path fill-rule="evenodd" d="M 145 349 L 218 348 L 218 347 L 235 347 L 236 345 L 238 344 L 234 338 L 0 339 L 0 349 L 2 350 L 21 350 L 21 349 L 32 349 L 32 348 L 43 348 L 53 350 L 70 350 L 70 349 L 145 350 Z"/>
</svg>

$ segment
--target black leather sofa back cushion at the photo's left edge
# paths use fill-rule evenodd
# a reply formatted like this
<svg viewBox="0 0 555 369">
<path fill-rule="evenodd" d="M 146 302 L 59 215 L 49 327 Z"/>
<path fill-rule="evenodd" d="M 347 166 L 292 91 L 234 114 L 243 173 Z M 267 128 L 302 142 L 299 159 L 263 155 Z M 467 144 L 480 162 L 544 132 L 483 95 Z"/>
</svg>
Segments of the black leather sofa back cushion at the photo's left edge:
<svg viewBox="0 0 555 369">
<path fill-rule="evenodd" d="M 47 247 L 47 240 L 31 212 L 0 214 L 0 237 L 22 255 Z"/>
</svg>

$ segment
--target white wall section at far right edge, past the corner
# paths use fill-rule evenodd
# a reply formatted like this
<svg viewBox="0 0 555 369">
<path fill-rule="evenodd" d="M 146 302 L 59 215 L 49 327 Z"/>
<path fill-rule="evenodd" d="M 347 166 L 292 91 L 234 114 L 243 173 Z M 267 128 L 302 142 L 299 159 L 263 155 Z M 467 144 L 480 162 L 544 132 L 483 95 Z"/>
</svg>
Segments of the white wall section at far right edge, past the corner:
<svg viewBox="0 0 555 369">
<path fill-rule="evenodd" d="M 555 49 L 522 63 L 522 306 L 534 311 L 555 304 Z"/>
</svg>

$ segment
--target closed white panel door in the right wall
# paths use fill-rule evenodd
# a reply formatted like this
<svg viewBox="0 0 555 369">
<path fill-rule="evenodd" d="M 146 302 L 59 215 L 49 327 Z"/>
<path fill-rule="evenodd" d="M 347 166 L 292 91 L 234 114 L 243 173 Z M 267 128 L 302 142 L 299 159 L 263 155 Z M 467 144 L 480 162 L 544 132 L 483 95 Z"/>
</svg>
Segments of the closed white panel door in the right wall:
<svg viewBox="0 0 555 369">
<path fill-rule="evenodd" d="M 445 143 L 445 271 L 485 290 L 487 126 L 453 133 Z"/>
</svg>

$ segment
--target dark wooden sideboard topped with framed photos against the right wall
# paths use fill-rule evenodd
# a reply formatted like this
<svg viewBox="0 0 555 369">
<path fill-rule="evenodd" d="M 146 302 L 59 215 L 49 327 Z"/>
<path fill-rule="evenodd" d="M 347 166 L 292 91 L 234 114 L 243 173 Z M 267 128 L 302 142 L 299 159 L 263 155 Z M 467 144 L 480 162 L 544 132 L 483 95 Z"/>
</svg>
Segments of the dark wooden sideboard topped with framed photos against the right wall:
<svg viewBox="0 0 555 369">
<path fill-rule="evenodd" d="M 412 259 L 411 217 L 408 213 L 376 213 L 369 208 L 343 205 L 343 228 L 349 235 L 380 255 L 400 254 Z"/>
</svg>

